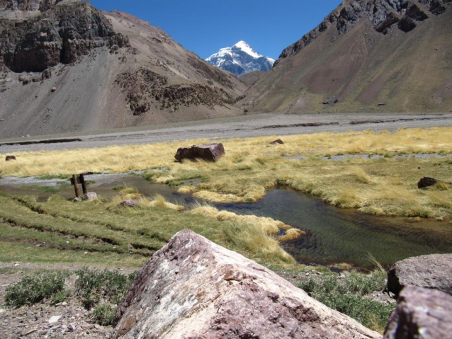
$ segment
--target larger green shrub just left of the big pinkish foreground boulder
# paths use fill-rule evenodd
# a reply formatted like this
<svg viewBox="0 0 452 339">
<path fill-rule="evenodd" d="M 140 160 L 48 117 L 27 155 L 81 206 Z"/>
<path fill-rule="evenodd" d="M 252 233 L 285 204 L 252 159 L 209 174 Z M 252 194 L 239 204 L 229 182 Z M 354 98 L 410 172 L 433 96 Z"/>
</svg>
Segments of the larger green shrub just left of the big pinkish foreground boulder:
<svg viewBox="0 0 452 339">
<path fill-rule="evenodd" d="M 98 304 L 101 298 L 119 304 L 135 277 L 135 273 L 122 275 L 115 271 L 89 268 L 82 268 L 76 273 L 79 276 L 75 282 L 76 294 L 82 297 L 86 309 Z"/>
</svg>

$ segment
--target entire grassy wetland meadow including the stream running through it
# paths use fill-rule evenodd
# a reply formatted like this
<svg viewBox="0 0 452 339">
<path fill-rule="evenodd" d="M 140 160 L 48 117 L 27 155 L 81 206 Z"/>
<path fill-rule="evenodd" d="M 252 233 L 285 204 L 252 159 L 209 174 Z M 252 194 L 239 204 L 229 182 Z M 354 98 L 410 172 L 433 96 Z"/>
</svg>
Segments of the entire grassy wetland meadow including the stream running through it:
<svg viewBox="0 0 452 339">
<path fill-rule="evenodd" d="M 423 176 L 451 180 L 451 135 L 434 127 L 277 145 L 227 139 L 216 163 L 174 161 L 179 146 L 206 139 L 18 153 L 0 168 L 0 261 L 141 268 L 191 229 L 383 332 L 394 304 L 379 299 L 381 265 L 451 251 L 450 185 L 417 188 Z M 96 173 L 86 180 L 98 198 L 73 202 L 68 179 L 86 171 Z M 333 283 L 358 293 L 342 296 Z"/>
</svg>

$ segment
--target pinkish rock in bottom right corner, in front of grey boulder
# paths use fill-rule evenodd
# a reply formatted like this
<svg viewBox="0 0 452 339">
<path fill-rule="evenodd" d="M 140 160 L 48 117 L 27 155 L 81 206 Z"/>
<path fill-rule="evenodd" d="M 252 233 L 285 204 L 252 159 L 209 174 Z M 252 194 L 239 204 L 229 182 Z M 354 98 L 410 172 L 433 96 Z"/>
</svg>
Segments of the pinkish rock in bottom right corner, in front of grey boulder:
<svg viewBox="0 0 452 339">
<path fill-rule="evenodd" d="M 452 297 L 440 291 L 407 286 L 385 328 L 385 339 L 452 338 Z"/>
</svg>

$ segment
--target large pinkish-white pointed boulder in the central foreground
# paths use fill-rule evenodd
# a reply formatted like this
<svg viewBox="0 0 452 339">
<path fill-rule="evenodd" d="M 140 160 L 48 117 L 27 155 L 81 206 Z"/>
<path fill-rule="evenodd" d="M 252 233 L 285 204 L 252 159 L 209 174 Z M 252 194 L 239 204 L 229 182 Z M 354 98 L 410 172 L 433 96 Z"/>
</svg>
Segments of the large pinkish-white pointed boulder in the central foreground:
<svg viewBox="0 0 452 339">
<path fill-rule="evenodd" d="M 113 338 L 380 338 L 274 272 L 183 230 L 138 273 Z"/>
</svg>

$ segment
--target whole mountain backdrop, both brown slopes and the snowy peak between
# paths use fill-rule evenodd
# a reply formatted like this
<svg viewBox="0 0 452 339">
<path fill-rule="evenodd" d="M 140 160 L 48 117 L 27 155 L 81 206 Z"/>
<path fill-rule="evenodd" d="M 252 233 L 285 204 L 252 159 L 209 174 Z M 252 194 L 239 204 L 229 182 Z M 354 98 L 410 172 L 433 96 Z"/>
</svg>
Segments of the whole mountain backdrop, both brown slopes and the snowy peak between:
<svg viewBox="0 0 452 339">
<path fill-rule="evenodd" d="M 346 0 L 276 62 L 244 41 L 205 61 L 127 13 L 0 0 L 1 138 L 255 113 L 449 113 L 451 22 L 451 0 Z"/>
</svg>

